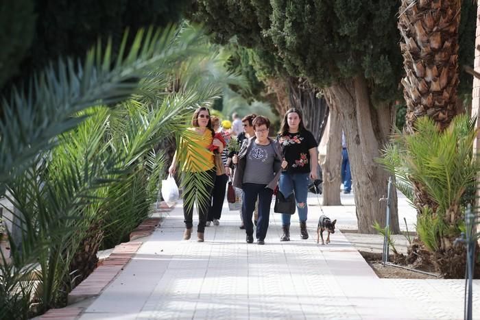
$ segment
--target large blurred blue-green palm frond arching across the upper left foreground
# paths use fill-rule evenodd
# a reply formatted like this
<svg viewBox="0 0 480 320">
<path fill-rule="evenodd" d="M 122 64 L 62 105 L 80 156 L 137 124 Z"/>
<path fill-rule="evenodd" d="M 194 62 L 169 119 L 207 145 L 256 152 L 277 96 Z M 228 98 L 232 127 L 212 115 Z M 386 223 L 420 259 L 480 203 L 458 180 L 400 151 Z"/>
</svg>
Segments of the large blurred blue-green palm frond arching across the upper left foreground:
<svg viewBox="0 0 480 320">
<path fill-rule="evenodd" d="M 0 186 L 23 171 L 36 154 L 53 146 L 53 137 L 84 120 L 72 117 L 75 112 L 96 103 L 125 99 L 148 71 L 159 64 L 176 62 L 198 41 L 198 34 L 191 29 L 180 34 L 174 28 L 163 33 L 150 29 L 137 34 L 127 54 L 126 36 L 115 63 L 111 62 L 112 43 L 108 42 L 104 50 L 99 44 L 88 51 L 84 65 L 59 60 L 55 68 L 50 66 L 34 76 L 26 93 L 14 89 L 10 100 L 3 100 L 5 118 L 0 121 L 0 136 L 5 138 L 0 144 Z M 172 48 L 175 37 L 182 45 Z"/>
</svg>

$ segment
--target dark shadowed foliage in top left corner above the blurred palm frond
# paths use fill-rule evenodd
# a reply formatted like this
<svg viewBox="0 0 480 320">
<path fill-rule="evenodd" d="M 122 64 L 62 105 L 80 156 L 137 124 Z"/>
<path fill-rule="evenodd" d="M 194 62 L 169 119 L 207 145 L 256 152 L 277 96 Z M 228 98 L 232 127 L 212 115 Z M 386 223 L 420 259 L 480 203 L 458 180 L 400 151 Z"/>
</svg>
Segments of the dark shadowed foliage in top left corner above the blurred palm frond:
<svg viewBox="0 0 480 320">
<path fill-rule="evenodd" d="M 188 0 L 2 1 L 0 29 L 8 38 L 1 42 L 0 88 L 5 84 L 10 91 L 12 84 L 26 82 L 51 60 L 79 56 L 98 38 L 110 37 L 114 52 L 119 52 L 124 29 L 135 34 L 141 27 L 177 23 L 188 4 Z"/>
</svg>

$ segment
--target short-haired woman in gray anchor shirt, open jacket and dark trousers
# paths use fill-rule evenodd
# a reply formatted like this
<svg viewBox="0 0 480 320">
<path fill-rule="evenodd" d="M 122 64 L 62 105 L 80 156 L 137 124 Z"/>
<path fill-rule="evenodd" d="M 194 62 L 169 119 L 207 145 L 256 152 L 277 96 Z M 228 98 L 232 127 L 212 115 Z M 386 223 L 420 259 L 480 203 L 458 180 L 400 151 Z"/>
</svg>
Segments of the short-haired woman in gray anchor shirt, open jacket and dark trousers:
<svg viewBox="0 0 480 320">
<path fill-rule="evenodd" d="M 270 205 L 274 188 L 280 177 L 282 154 L 275 140 L 268 136 L 270 121 L 265 116 L 257 116 L 253 121 L 255 137 L 243 143 L 239 154 L 232 161 L 237 164 L 233 186 L 243 190 L 243 223 L 247 243 L 253 242 L 252 214 L 255 201 L 259 199 L 259 219 L 256 225 L 256 242 L 265 245 Z"/>
</svg>

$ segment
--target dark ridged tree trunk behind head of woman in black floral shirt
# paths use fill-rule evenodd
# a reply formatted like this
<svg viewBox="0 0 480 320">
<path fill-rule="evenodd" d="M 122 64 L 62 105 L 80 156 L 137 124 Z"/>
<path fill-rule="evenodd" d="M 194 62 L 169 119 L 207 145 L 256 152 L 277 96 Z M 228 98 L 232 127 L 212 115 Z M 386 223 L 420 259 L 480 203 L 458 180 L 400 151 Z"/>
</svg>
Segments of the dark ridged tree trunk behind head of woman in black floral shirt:
<svg viewBox="0 0 480 320">
<path fill-rule="evenodd" d="M 302 111 L 303 123 L 317 143 L 320 142 L 328 119 L 328 106 L 324 97 L 319 97 L 320 90 L 314 88 L 306 79 L 290 77 L 289 101 L 291 108 Z"/>
</svg>

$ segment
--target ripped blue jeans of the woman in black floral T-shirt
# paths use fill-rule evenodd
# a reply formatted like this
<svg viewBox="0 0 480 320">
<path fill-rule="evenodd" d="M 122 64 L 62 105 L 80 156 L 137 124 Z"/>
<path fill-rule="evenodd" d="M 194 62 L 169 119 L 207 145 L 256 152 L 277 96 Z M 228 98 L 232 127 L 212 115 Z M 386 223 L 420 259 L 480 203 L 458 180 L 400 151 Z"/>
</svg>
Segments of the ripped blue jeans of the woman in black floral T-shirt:
<svg viewBox="0 0 480 320">
<path fill-rule="evenodd" d="M 291 193 L 295 194 L 297 202 L 298 219 L 300 222 L 307 221 L 309 208 L 307 207 L 307 195 L 309 192 L 310 173 L 287 173 L 280 174 L 278 181 L 278 190 L 289 197 Z M 299 206 L 298 204 L 302 204 Z M 282 214 L 282 224 L 290 225 L 291 214 Z"/>
</svg>

